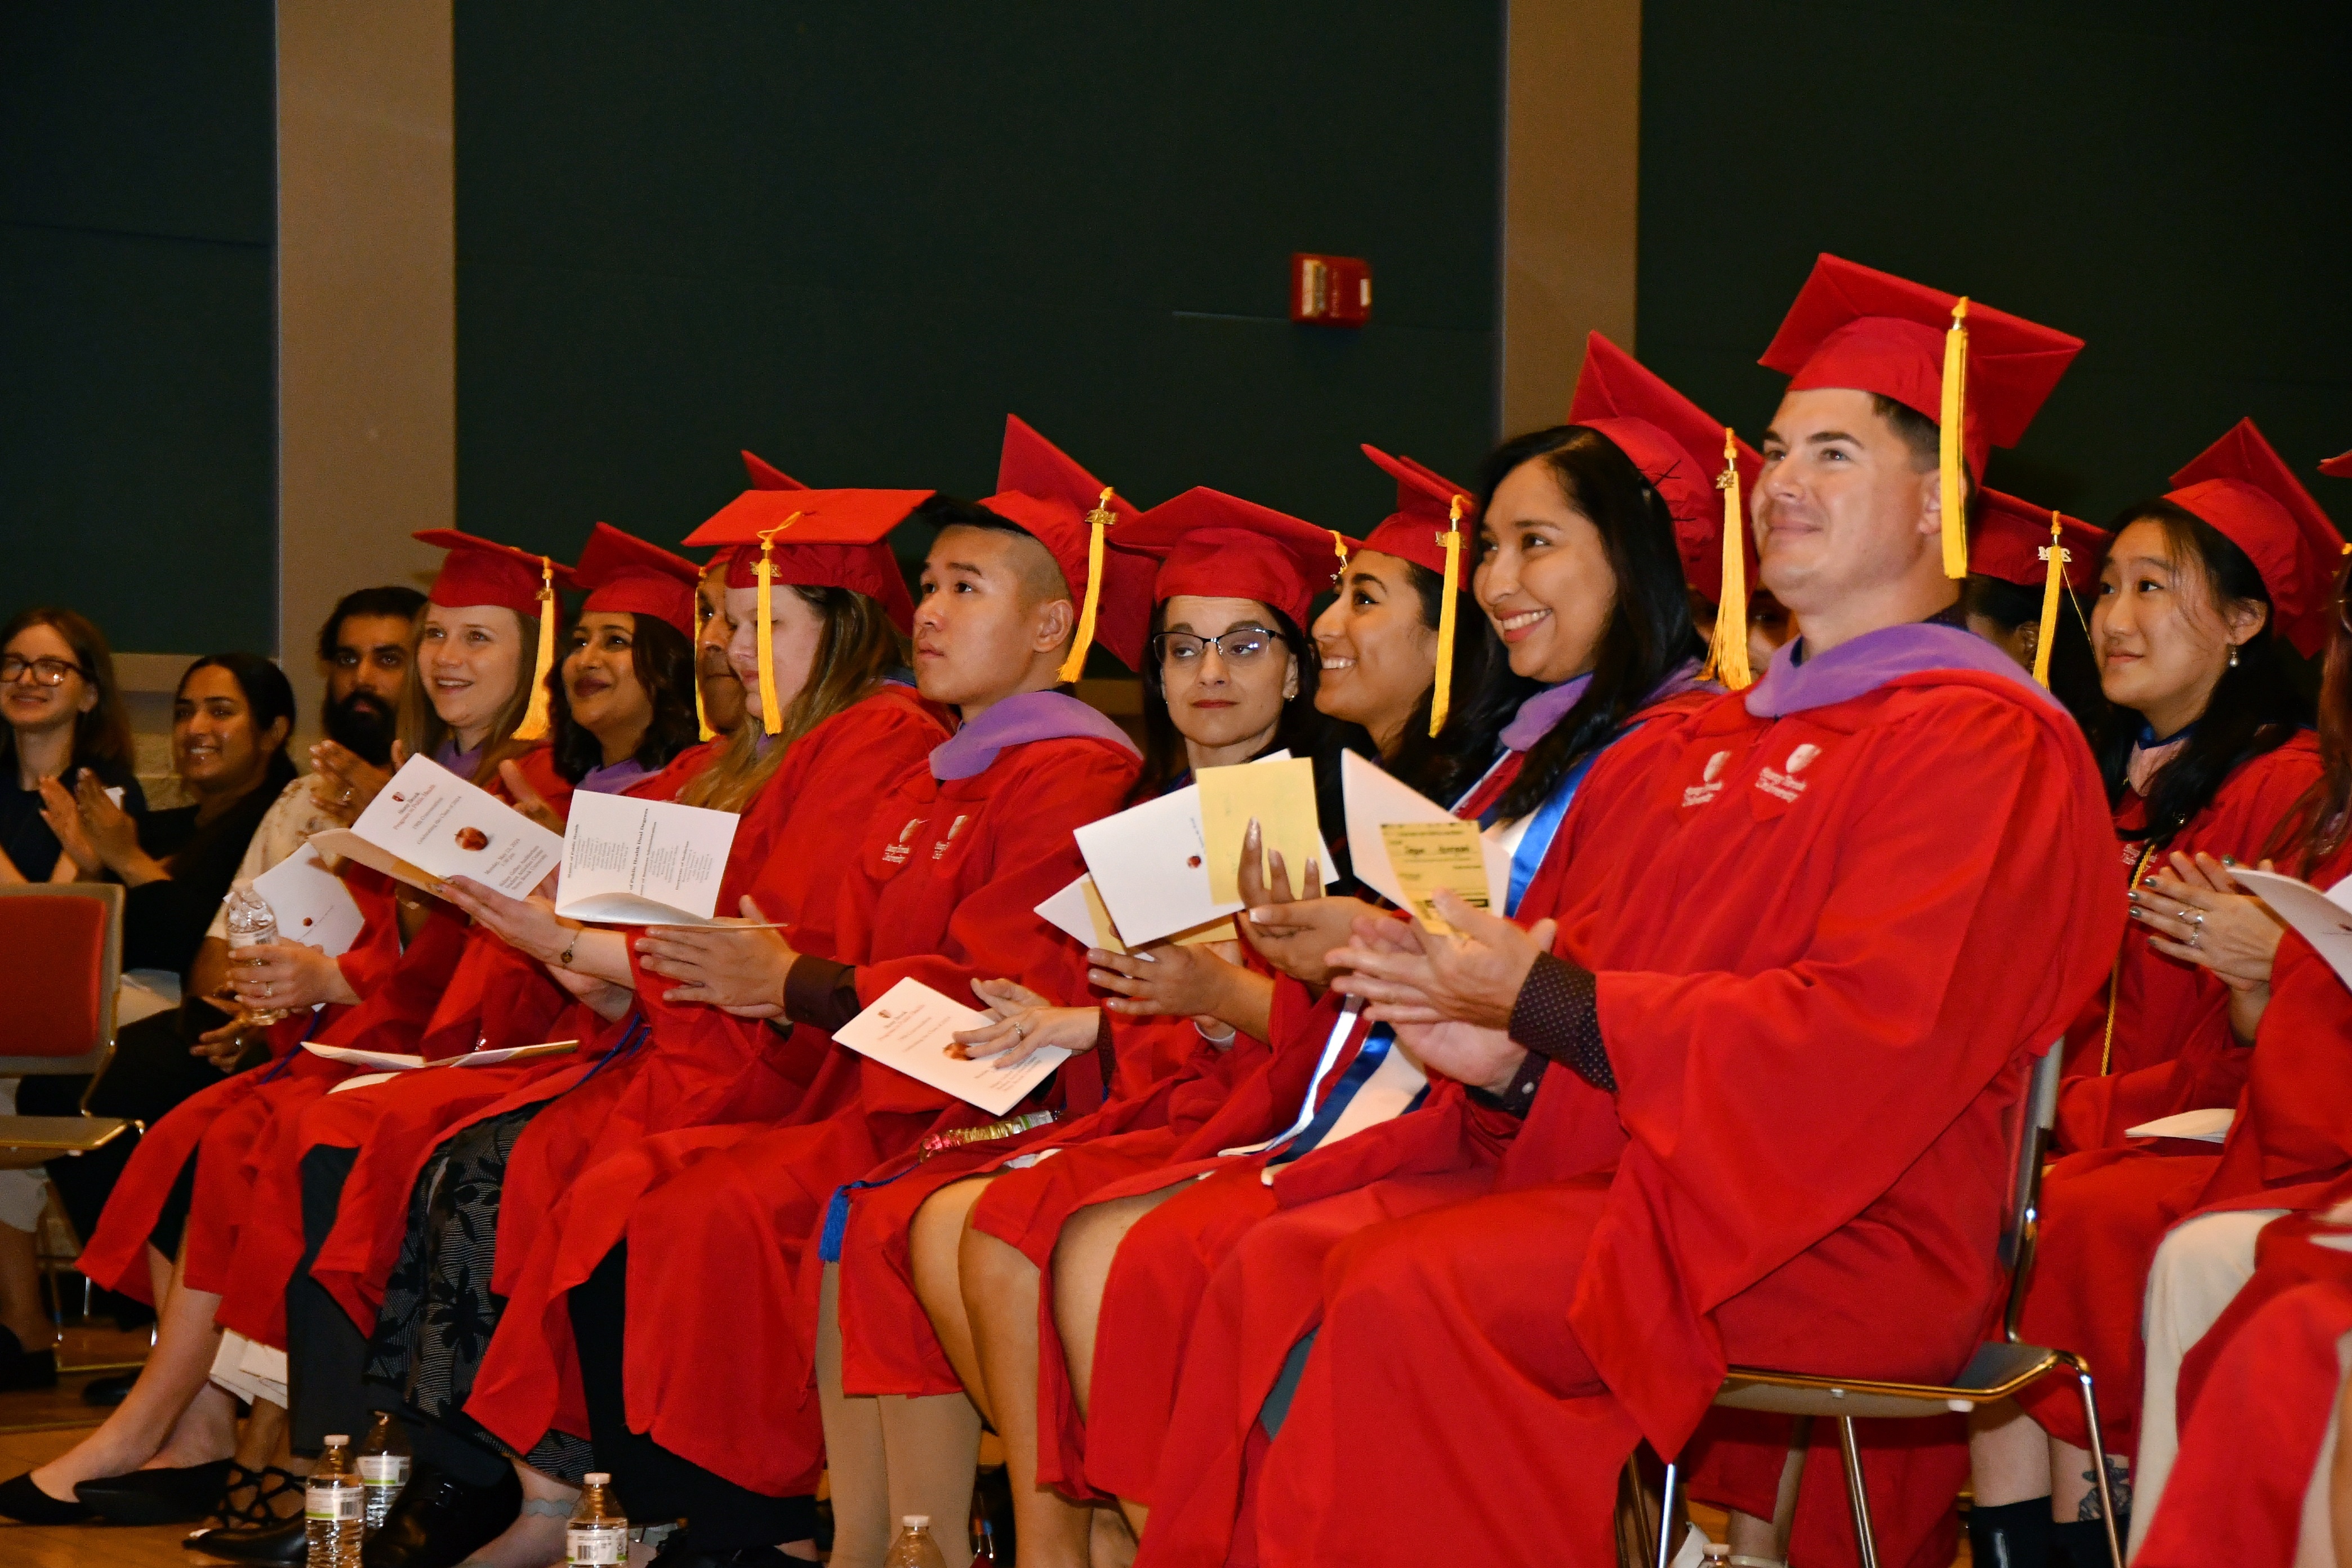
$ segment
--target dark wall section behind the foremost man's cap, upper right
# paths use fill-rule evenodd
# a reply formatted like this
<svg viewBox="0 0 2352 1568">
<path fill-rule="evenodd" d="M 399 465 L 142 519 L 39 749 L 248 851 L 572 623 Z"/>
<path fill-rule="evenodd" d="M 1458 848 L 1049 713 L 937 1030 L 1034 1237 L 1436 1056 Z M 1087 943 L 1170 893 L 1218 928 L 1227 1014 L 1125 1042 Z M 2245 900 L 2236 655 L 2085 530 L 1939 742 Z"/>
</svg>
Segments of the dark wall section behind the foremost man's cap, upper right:
<svg viewBox="0 0 2352 1568">
<path fill-rule="evenodd" d="M 1642 357 L 1755 435 L 1816 252 L 2089 341 L 1990 480 L 2105 522 L 2239 416 L 2352 484 L 2352 7 L 1649 0 Z"/>
</svg>

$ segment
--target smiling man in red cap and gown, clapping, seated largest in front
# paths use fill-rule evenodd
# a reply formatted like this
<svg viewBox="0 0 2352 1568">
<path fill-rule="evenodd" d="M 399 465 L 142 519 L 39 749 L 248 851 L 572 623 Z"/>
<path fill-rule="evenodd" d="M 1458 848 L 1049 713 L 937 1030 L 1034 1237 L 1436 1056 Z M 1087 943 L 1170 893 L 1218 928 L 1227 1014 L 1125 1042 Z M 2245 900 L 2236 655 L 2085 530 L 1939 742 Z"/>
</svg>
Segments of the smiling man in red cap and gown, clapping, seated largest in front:
<svg viewBox="0 0 2352 1568">
<path fill-rule="evenodd" d="M 1973 1349 L 2006 1112 L 2122 917 L 2091 755 L 1952 625 L 1945 543 L 1959 463 L 2013 442 L 2079 343 L 1978 308 L 1955 343 L 1959 308 L 1816 266 L 1766 353 L 1790 390 L 1752 501 L 1762 581 L 1804 637 L 1679 722 L 1656 788 L 1609 799 L 1599 827 L 1642 849 L 1576 889 L 1555 947 L 1456 900 L 1461 945 L 1334 954 L 1435 1070 L 1531 1112 L 1496 1194 L 1327 1265 L 1263 1474 L 1265 1563 L 1421 1561 L 1428 1540 L 1606 1563 L 1625 1458 L 1679 1458 L 1726 1363 L 1950 1378 Z M 1762 1521 L 1790 1434 L 1745 1436 L 1710 1490 Z M 1886 1561 L 1950 1512 L 1966 1458 L 1931 1460 L 1872 1474 Z M 1809 1467 L 1816 1556 L 1846 1530 L 1835 1479 Z"/>
</svg>

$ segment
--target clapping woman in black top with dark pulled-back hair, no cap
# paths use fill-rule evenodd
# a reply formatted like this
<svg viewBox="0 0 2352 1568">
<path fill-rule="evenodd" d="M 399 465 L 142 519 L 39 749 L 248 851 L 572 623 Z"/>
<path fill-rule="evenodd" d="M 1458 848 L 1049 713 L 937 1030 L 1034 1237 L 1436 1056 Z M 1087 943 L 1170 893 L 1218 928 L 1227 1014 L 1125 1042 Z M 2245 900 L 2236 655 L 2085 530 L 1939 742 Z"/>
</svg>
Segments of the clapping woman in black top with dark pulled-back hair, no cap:
<svg viewBox="0 0 2352 1568">
<path fill-rule="evenodd" d="M 245 844 L 294 778 L 287 736 L 294 686 L 252 654 L 198 658 L 172 698 L 172 769 L 195 799 L 132 818 L 96 778 L 71 792 L 42 783 L 47 820 L 80 879 L 125 884 L 122 969 L 169 969 L 186 978 L 212 912 L 245 860 Z"/>
</svg>

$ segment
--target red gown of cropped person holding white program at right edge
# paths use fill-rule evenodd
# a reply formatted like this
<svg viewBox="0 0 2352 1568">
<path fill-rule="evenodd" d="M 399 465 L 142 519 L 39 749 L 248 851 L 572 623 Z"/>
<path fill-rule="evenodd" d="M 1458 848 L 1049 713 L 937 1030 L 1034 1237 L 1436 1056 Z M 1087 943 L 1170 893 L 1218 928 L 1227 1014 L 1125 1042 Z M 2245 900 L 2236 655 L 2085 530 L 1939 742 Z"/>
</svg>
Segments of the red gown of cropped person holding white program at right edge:
<svg viewBox="0 0 2352 1568">
<path fill-rule="evenodd" d="M 2328 858 L 2324 886 L 2352 870 Z M 2042 1185 L 2042 1246 L 2020 1331 L 2082 1354 L 2098 1380 L 2110 1453 L 2133 1453 L 2140 1418 L 2140 1298 L 2164 1232 L 2213 1208 L 2310 1208 L 2352 1171 L 2352 992 L 2288 933 L 2251 1074 L 2220 1154 L 2169 1138 L 2067 1154 Z M 2065 1389 L 2072 1396 L 2072 1389 Z M 2079 1396 L 2034 1392 L 2025 1410 L 2089 1446 Z"/>
</svg>

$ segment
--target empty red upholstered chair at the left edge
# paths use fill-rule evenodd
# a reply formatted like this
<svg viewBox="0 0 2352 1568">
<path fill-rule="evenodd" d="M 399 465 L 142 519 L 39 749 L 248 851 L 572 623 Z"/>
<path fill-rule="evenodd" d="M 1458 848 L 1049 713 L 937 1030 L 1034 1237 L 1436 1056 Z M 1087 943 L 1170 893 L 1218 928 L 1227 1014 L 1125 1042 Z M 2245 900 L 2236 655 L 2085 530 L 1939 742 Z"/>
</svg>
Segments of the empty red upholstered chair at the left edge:
<svg viewBox="0 0 2352 1568">
<path fill-rule="evenodd" d="M 89 1074 L 115 1053 L 122 889 L 111 882 L 0 886 L 0 1077 Z M 0 1166 L 85 1154 L 120 1117 L 0 1117 Z"/>
</svg>

